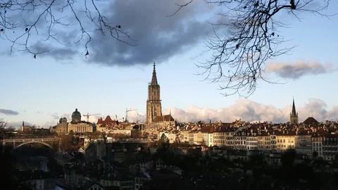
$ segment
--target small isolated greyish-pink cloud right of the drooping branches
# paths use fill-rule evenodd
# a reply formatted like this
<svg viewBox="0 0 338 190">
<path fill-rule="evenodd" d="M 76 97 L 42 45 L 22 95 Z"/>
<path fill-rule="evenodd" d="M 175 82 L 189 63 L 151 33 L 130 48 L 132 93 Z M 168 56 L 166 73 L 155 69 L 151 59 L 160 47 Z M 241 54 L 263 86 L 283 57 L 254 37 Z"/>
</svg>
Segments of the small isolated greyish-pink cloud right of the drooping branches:
<svg viewBox="0 0 338 190">
<path fill-rule="evenodd" d="M 267 72 L 275 72 L 276 75 L 297 80 L 305 75 L 320 75 L 332 72 L 335 69 L 330 64 L 321 64 L 318 62 L 296 62 L 296 63 L 269 63 L 266 65 Z"/>
</svg>

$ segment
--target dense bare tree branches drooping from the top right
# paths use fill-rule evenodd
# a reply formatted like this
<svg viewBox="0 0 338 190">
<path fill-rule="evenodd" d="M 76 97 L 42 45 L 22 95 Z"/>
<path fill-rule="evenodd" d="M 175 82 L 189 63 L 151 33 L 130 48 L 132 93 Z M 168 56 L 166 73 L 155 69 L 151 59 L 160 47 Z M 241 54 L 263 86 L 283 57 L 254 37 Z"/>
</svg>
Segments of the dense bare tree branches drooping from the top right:
<svg viewBox="0 0 338 190">
<path fill-rule="evenodd" d="M 187 4 L 177 4 L 182 11 Z M 296 13 L 306 12 L 329 18 L 323 13 L 330 0 L 205 0 L 206 4 L 223 6 L 217 14 L 225 22 L 211 23 L 213 34 L 208 36 L 206 46 L 213 53 L 205 62 L 196 64 L 206 75 L 205 80 L 222 83 L 220 89 L 230 91 L 225 96 L 239 94 L 248 97 L 256 90 L 258 80 L 279 83 L 264 77 L 265 63 L 277 56 L 290 53 L 295 46 L 283 47 L 287 40 L 279 32 L 289 27 L 277 20 L 277 13 L 287 13 L 300 19 Z M 170 15 L 170 16 L 173 16 Z"/>
</svg>

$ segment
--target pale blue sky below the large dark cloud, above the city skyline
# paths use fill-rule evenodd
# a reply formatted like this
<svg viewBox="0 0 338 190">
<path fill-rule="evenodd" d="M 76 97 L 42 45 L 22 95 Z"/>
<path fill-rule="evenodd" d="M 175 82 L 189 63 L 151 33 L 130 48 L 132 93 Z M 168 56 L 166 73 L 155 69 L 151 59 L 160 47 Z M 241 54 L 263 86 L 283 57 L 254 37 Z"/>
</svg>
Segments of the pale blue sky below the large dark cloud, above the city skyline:
<svg viewBox="0 0 338 190">
<path fill-rule="evenodd" d="M 331 8 L 337 10 L 338 6 L 332 4 Z M 149 57 L 147 60 L 151 61 L 144 64 L 127 66 L 96 63 L 90 58 L 83 58 L 81 52 L 72 59 L 62 61 L 52 56 L 37 56 L 34 59 L 28 53 L 15 53 L 12 56 L 2 53 L 0 110 L 13 110 L 18 114 L 8 115 L 4 114 L 6 111 L 0 111 L 0 118 L 15 126 L 25 120 L 30 124 L 49 127 L 56 125 L 61 116 L 69 117 L 75 108 L 82 114 L 117 114 L 118 118 L 125 116 L 126 108 L 137 108 L 138 115 L 136 112 L 130 113 L 131 120 L 143 120 L 147 85 L 151 80 L 152 63 L 156 61 L 163 114 L 172 110 L 174 118 L 178 120 L 211 118 L 231 122 L 234 118 L 242 118 L 251 121 L 287 121 L 292 96 L 295 97 L 300 120 L 305 120 L 309 114 L 321 121 L 338 120 L 338 91 L 334 89 L 334 82 L 337 81 L 334 70 L 338 68 L 337 19 L 306 14 L 301 22 L 293 20 L 292 28 L 281 30 L 281 33 L 287 39 L 293 39 L 287 44 L 299 46 L 292 55 L 271 61 L 278 64 L 318 63 L 323 65 L 326 73 L 315 75 L 306 72 L 293 80 L 276 75 L 278 71 L 275 70 L 275 73 L 268 73 L 269 77 L 288 83 L 273 85 L 260 82 L 260 87 L 249 99 L 239 99 L 238 95 L 224 97 L 218 90 L 218 84 L 201 82 L 204 77 L 194 75 L 199 72 L 194 63 L 208 58 L 207 53 L 201 54 L 205 50 L 203 37 L 189 46 L 177 47 L 181 50 L 166 55 L 160 61 Z M 3 40 L 2 43 L 6 44 Z M 119 42 L 111 39 L 110 43 Z M 4 48 L 8 46 L 2 46 L 1 50 L 6 51 Z M 130 47 L 143 48 L 142 44 Z M 149 55 L 153 54 L 149 52 Z M 327 63 L 331 66 L 326 67 Z M 249 112 L 246 108 L 256 111 Z M 92 121 L 95 119 L 91 117 Z"/>
</svg>

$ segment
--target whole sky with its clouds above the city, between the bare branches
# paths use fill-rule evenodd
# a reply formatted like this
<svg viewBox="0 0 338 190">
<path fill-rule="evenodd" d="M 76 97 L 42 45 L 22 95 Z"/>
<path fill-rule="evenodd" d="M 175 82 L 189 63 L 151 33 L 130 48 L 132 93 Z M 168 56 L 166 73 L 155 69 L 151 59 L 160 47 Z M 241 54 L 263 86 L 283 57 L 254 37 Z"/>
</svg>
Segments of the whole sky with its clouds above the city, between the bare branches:
<svg viewBox="0 0 338 190">
<path fill-rule="evenodd" d="M 244 99 L 236 94 L 225 97 L 219 84 L 196 75 L 201 70 L 195 64 L 211 55 L 204 42 L 212 31 L 208 21 L 218 19 L 214 14 L 217 7 L 194 1 L 173 17 L 166 15 L 175 12 L 174 1 L 111 1 L 101 7 L 108 20 L 121 23 L 136 39 L 127 42 L 137 46 L 93 32 L 85 57 L 85 41 L 73 43 L 80 30 L 58 26 L 54 27 L 58 37 L 70 44 L 61 46 L 34 36 L 32 48 L 54 49 L 33 58 L 27 52 L 10 54 L 11 43 L 0 39 L 0 118 L 8 125 L 19 127 L 25 121 L 27 125 L 54 126 L 61 117 L 70 120 L 75 108 L 82 115 L 95 114 L 89 117 L 90 122 L 106 115 L 117 115 L 121 120 L 126 109 L 137 109 L 128 113 L 130 121 L 144 121 L 154 61 L 163 114 L 171 110 L 180 122 L 287 122 L 293 97 L 299 121 L 308 116 L 320 122 L 338 120 L 338 91 L 334 87 L 337 16 L 328 19 L 301 13 L 299 21 L 277 15 L 292 24 L 280 29 L 280 34 L 290 39 L 285 45 L 297 46 L 292 54 L 266 63 L 265 75 L 286 84 L 258 82 L 255 93 Z M 338 10 L 337 3 L 332 3 L 327 12 L 332 10 Z M 38 23 L 40 30 L 44 27 L 43 22 Z M 43 36 L 43 30 L 39 34 Z"/>
</svg>

